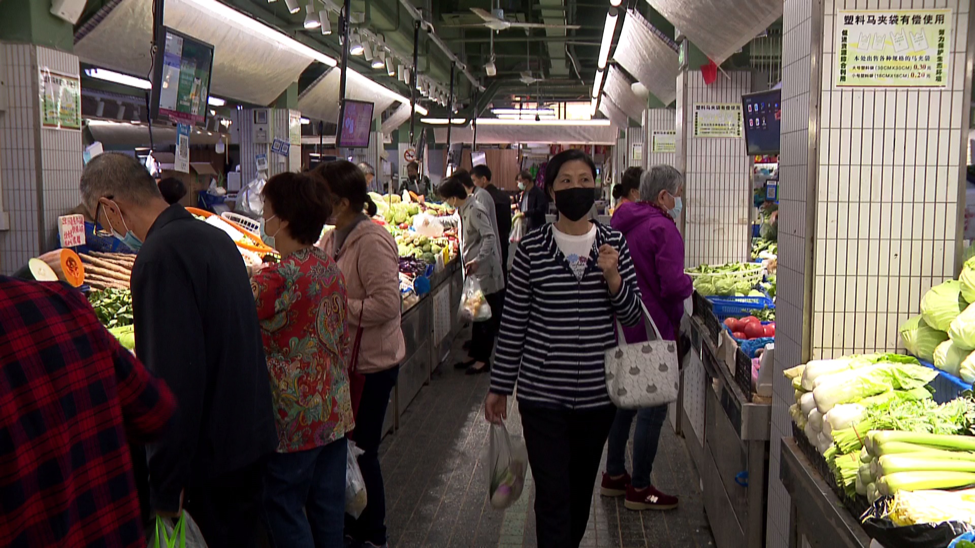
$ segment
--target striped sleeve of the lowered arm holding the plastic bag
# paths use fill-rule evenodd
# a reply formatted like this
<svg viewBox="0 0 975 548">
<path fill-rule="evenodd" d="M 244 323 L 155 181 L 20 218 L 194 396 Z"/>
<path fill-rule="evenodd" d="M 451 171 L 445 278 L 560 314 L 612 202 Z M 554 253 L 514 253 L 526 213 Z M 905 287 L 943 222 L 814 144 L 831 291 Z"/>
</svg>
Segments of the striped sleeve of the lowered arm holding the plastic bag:
<svg viewBox="0 0 975 548">
<path fill-rule="evenodd" d="M 524 241 L 515 251 L 515 259 L 508 275 L 508 294 L 501 315 L 501 329 L 497 338 L 494 367 L 490 373 L 490 391 L 510 396 L 522 366 L 528 310 L 531 308 L 531 287 L 528 283 L 530 261 Z"/>
</svg>

